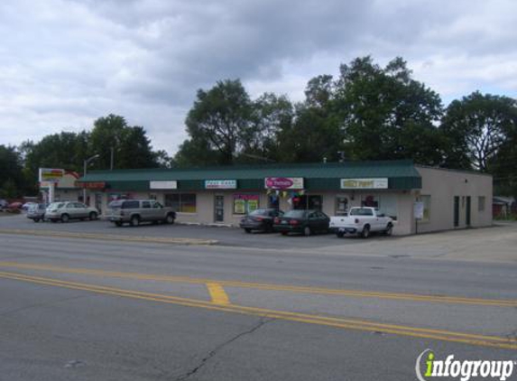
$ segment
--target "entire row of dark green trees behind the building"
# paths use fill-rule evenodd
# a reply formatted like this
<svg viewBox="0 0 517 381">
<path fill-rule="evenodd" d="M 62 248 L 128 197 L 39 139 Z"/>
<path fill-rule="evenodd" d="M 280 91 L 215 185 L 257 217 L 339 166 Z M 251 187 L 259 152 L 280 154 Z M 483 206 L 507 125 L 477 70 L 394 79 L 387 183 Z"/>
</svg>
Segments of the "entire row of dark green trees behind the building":
<svg viewBox="0 0 517 381">
<path fill-rule="evenodd" d="M 412 159 L 415 163 L 494 174 L 496 191 L 517 195 L 515 99 L 478 91 L 442 106 L 397 57 L 384 67 L 358 57 L 337 78 L 309 79 L 305 98 L 251 98 L 239 79 L 198 89 L 185 119 L 187 139 L 172 159 L 153 151 L 143 126 L 99 117 L 90 131 L 47 135 L 19 147 L 0 145 L 0 191 L 34 192 L 40 167 L 92 169 Z M 11 196 L 10 196 L 11 197 Z"/>
</svg>

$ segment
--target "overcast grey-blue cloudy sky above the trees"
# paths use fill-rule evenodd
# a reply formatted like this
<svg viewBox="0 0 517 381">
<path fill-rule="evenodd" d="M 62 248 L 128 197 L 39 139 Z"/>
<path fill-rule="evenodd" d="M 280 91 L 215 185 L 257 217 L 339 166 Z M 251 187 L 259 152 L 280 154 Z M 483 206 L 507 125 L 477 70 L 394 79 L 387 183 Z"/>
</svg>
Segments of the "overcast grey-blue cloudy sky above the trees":
<svg viewBox="0 0 517 381">
<path fill-rule="evenodd" d="M 297 101 L 365 55 L 402 56 L 445 104 L 517 98 L 514 0 L 2 0 L 0 39 L 0 144 L 112 113 L 174 153 L 198 88 Z"/>
</svg>

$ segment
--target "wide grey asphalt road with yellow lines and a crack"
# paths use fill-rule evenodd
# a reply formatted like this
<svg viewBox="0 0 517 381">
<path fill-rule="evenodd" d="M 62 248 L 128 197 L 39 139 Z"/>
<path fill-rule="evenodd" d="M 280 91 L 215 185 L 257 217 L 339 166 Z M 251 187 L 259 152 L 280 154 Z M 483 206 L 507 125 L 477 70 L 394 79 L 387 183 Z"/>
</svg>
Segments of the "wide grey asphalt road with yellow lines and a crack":
<svg viewBox="0 0 517 381">
<path fill-rule="evenodd" d="M 313 238 L 266 250 L 0 234 L 0 379 L 414 380 L 427 348 L 517 359 L 517 265 Z"/>
</svg>

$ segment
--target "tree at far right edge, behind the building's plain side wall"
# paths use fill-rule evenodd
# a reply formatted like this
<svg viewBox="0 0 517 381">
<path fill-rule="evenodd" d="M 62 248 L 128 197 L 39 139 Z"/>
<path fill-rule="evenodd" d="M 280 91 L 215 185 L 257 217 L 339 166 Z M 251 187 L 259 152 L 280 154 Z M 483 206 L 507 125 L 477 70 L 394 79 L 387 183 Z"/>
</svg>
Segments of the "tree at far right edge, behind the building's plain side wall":
<svg viewBox="0 0 517 381">
<path fill-rule="evenodd" d="M 506 164 L 496 156 L 503 146 L 501 153 L 512 155 L 507 138 L 513 136 L 516 125 L 517 108 L 512 98 L 475 91 L 453 101 L 440 126 L 451 147 L 446 164 L 490 172 L 491 163 L 499 162 L 497 165 L 503 168 Z M 514 163 L 511 165 L 514 167 Z"/>
</svg>

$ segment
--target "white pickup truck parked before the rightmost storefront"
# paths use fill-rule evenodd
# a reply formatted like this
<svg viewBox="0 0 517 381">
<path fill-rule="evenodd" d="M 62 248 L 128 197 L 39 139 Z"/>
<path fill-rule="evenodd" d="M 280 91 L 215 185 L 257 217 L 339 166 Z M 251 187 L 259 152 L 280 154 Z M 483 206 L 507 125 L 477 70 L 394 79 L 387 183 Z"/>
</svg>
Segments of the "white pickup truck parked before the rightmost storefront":
<svg viewBox="0 0 517 381">
<path fill-rule="evenodd" d="M 337 237 L 357 234 L 367 238 L 371 232 L 382 232 L 386 236 L 391 236 L 393 220 L 379 213 L 379 209 L 356 207 L 350 208 L 347 216 L 331 217 L 328 228 L 336 233 Z"/>
</svg>

